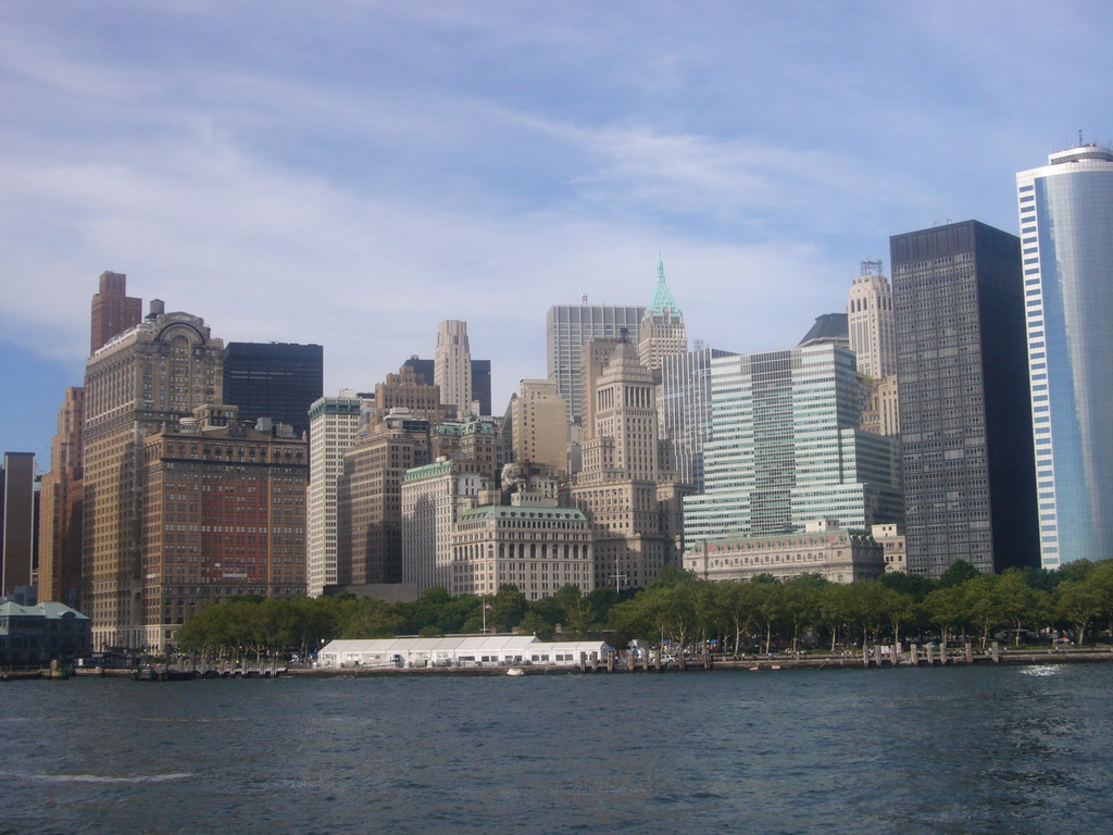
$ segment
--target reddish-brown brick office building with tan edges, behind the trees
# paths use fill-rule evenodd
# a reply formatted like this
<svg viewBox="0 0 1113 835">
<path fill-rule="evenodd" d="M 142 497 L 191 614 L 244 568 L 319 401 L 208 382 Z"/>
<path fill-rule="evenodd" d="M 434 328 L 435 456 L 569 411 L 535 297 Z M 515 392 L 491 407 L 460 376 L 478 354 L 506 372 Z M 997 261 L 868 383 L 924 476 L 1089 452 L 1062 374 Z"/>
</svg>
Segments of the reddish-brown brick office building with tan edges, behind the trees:
<svg viewBox="0 0 1113 835">
<path fill-rule="evenodd" d="M 141 646 L 232 597 L 305 596 L 305 448 L 224 403 L 144 440 Z"/>
</svg>

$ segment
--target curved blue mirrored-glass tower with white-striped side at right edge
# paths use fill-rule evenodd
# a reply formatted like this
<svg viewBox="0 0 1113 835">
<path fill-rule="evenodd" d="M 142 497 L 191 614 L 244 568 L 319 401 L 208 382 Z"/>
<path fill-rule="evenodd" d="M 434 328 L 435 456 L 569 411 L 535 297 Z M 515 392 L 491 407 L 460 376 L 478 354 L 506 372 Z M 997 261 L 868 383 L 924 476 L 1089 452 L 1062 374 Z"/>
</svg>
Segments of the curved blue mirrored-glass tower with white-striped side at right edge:
<svg viewBox="0 0 1113 835">
<path fill-rule="evenodd" d="M 1113 553 L 1113 150 L 1016 186 L 1044 568 Z"/>
</svg>

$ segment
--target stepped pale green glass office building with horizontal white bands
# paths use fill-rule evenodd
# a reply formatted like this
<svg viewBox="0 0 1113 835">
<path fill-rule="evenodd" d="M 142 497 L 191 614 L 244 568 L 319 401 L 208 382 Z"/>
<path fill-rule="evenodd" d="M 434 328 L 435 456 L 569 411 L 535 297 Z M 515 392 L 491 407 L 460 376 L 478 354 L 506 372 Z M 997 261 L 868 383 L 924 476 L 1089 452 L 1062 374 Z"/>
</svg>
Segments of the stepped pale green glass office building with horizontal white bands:
<svg viewBox="0 0 1113 835">
<path fill-rule="evenodd" d="M 902 519 L 893 439 L 858 428 L 854 353 L 815 344 L 711 360 L 705 492 L 684 500 L 684 544 Z"/>
</svg>

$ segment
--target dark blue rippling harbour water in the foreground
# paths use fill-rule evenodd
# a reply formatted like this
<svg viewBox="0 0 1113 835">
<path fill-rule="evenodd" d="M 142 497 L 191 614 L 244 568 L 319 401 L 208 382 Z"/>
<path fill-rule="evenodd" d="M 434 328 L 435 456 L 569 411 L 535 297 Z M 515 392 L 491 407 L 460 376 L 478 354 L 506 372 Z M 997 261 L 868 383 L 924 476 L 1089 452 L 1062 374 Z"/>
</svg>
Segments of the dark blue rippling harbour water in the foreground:
<svg viewBox="0 0 1113 835">
<path fill-rule="evenodd" d="M 0 833 L 1092 833 L 1113 665 L 0 685 Z"/>
</svg>

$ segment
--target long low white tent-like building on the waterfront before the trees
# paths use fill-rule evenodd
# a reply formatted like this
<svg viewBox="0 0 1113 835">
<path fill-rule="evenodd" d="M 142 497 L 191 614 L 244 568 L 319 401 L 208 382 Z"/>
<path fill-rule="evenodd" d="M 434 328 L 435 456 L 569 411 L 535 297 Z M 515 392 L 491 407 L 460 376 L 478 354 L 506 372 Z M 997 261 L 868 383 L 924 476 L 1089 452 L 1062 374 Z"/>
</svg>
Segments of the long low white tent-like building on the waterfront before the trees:
<svg viewBox="0 0 1113 835">
<path fill-rule="evenodd" d="M 444 638 L 334 640 L 317 654 L 317 667 L 476 667 L 605 662 L 603 641 L 545 642 L 532 635 L 472 635 Z"/>
</svg>

